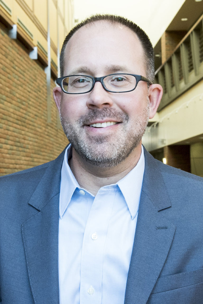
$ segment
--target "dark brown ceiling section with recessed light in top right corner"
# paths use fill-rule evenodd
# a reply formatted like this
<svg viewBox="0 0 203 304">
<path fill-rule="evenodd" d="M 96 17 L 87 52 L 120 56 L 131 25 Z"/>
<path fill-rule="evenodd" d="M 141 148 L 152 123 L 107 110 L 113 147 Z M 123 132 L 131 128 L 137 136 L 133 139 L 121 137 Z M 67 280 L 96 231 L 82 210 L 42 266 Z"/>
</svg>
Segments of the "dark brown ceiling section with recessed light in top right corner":
<svg viewBox="0 0 203 304">
<path fill-rule="evenodd" d="M 203 1 L 186 0 L 166 29 L 167 31 L 189 31 L 203 14 Z M 187 18 L 187 21 L 181 21 Z"/>
</svg>

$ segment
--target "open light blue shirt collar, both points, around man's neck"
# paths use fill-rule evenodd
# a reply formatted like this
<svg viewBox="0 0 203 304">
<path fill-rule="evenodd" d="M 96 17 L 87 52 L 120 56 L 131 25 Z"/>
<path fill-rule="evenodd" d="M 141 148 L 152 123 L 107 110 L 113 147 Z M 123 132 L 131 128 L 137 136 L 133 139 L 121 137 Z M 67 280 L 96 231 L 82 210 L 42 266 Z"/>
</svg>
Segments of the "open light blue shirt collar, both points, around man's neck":
<svg viewBox="0 0 203 304">
<path fill-rule="evenodd" d="M 64 160 L 61 168 L 61 186 L 59 199 L 59 216 L 61 219 L 71 201 L 75 189 L 80 188 L 78 182 L 75 179 L 75 176 L 73 175 L 68 165 L 68 159 L 70 159 L 71 157 L 72 148 L 71 144 L 69 144 L 65 151 Z M 125 202 L 131 214 L 131 219 L 134 219 L 138 212 L 144 170 L 145 157 L 144 150 L 142 147 L 141 156 L 137 165 L 124 178 L 122 178 L 120 181 L 117 182 L 117 184 L 115 184 L 118 185 L 124 196 Z"/>
</svg>

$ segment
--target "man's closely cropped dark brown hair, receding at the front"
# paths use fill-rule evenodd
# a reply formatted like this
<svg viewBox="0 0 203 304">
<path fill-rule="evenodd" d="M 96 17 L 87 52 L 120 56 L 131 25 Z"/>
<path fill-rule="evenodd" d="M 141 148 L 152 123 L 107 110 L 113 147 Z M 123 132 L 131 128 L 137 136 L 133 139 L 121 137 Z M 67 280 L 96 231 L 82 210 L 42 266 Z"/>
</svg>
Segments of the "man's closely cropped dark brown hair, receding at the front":
<svg viewBox="0 0 203 304">
<path fill-rule="evenodd" d="M 143 47 L 144 54 L 145 54 L 145 60 L 146 60 L 146 76 L 149 78 L 150 81 L 154 81 L 154 50 L 152 47 L 152 43 L 149 40 L 149 37 L 147 34 L 141 29 L 137 24 L 134 22 L 116 15 L 93 15 L 82 22 L 78 23 L 72 30 L 68 33 L 68 35 L 65 37 L 63 46 L 61 48 L 61 55 L 60 55 L 60 69 L 61 69 L 61 76 L 63 76 L 64 73 L 64 52 L 65 47 L 70 40 L 70 38 L 73 36 L 73 34 L 80 29 L 82 26 L 94 23 L 96 21 L 107 21 L 111 23 L 112 25 L 116 26 L 117 24 L 122 24 L 124 26 L 127 26 L 129 29 L 131 29 L 137 36 L 138 39 Z"/>
</svg>

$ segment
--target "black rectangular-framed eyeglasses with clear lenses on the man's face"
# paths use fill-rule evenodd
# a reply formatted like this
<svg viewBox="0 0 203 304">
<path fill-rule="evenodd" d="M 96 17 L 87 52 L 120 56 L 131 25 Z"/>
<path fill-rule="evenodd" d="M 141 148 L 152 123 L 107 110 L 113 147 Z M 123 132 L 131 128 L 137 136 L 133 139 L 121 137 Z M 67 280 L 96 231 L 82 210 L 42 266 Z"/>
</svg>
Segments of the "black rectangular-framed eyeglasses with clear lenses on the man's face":
<svg viewBox="0 0 203 304">
<path fill-rule="evenodd" d="M 101 82 L 104 90 L 112 93 L 133 91 L 139 81 L 146 81 L 152 85 L 152 82 L 149 79 L 134 74 L 109 74 L 103 77 L 69 75 L 57 78 L 56 83 L 60 85 L 64 93 L 84 94 L 92 91 L 96 81 Z"/>
</svg>

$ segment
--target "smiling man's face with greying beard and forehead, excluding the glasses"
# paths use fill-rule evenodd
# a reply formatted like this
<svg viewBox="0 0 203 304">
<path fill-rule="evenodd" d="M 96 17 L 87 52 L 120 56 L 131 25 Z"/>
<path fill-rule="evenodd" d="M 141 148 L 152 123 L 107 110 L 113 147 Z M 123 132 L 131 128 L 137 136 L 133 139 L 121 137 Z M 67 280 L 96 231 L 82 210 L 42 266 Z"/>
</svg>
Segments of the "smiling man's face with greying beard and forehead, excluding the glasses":
<svg viewBox="0 0 203 304">
<path fill-rule="evenodd" d="M 68 42 L 64 58 L 64 76 L 146 76 L 141 43 L 135 33 L 119 24 L 114 27 L 96 22 L 83 26 Z M 60 103 L 64 132 L 76 152 L 89 163 L 99 167 L 117 165 L 141 144 L 149 118 L 147 96 L 147 83 L 143 81 L 127 93 L 107 92 L 100 82 L 89 93 L 62 92 L 58 108 Z M 90 126 L 95 124 L 100 127 Z"/>
</svg>

